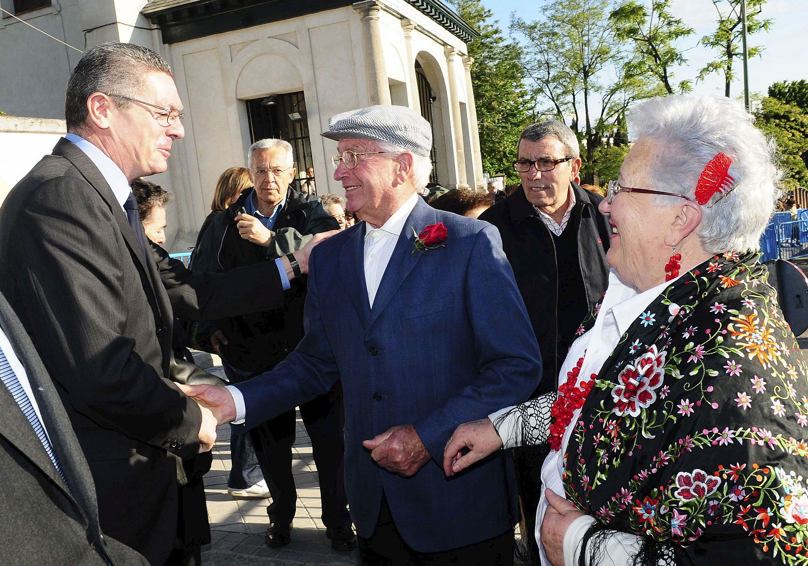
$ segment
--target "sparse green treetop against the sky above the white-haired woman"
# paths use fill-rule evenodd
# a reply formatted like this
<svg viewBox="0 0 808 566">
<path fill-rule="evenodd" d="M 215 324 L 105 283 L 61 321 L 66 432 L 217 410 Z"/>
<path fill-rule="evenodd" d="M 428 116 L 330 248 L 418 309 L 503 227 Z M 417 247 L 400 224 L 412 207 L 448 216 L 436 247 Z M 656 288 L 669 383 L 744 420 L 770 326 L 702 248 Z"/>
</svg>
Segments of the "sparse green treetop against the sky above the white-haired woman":
<svg viewBox="0 0 808 566">
<path fill-rule="evenodd" d="M 687 60 L 675 48 L 674 42 L 691 36 L 694 30 L 685 26 L 681 19 L 674 18 L 670 9 L 671 0 L 652 0 L 650 6 L 628 0 L 617 6 L 609 17 L 617 26 L 617 38 L 633 42 L 639 65 L 644 65 L 647 73 L 659 79 L 668 94 L 675 94 L 677 90 L 671 84 L 671 67 L 684 65 Z M 689 81 L 679 83 L 678 92 L 690 90 Z"/>
</svg>

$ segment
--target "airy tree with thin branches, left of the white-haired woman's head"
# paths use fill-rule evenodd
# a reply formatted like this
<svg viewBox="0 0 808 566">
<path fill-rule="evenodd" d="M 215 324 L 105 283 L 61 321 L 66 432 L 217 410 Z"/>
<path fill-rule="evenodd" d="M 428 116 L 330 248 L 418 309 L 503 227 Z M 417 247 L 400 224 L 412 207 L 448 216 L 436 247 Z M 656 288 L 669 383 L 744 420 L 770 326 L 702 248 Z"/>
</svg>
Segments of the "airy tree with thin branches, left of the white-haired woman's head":
<svg viewBox="0 0 808 566">
<path fill-rule="evenodd" d="M 609 0 L 556 0 L 541 8 L 541 19 L 511 18 L 538 113 L 565 123 L 569 117 L 579 135 L 584 182 L 594 179 L 596 150 L 612 145 L 626 110 L 665 92 L 642 58 L 623 48 L 612 11 Z"/>
</svg>

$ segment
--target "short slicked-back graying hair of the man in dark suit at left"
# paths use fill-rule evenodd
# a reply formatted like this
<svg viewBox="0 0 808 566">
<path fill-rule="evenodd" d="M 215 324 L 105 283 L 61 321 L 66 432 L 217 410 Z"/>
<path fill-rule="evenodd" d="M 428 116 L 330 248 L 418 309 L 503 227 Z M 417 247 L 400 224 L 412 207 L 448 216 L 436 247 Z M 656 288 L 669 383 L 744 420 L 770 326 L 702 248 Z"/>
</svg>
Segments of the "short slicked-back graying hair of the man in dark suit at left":
<svg viewBox="0 0 808 566">
<path fill-rule="evenodd" d="M 145 73 L 157 71 L 174 77 L 165 59 L 149 48 L 135 44 L 107 42 L 86 52 L 70 73 L 65 93 L 65 121 L 68 132 L 80 132 L 87 121 L 87 99 L 94 92 L 137 98 Z M 132 103 L 112 97 L 117 107 Z"/>
</svg>

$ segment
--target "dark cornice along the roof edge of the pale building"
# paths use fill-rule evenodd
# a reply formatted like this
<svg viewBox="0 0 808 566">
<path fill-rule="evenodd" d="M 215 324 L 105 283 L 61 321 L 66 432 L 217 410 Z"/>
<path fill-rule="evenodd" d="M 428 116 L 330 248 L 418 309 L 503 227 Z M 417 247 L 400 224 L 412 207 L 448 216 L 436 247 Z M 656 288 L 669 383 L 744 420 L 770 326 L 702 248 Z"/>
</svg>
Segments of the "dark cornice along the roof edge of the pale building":
<svg viewBox="0 0 808 566">
<path fill-rule="evenodd" d="M 383 0 L 382 0 L 383 2 Z M 440 0 L 406 0 L 468 43 L 479 34 Z M 149 0 L 142 14 L 166 44 L 351 6 L 351 0 Z"/>
</svg>

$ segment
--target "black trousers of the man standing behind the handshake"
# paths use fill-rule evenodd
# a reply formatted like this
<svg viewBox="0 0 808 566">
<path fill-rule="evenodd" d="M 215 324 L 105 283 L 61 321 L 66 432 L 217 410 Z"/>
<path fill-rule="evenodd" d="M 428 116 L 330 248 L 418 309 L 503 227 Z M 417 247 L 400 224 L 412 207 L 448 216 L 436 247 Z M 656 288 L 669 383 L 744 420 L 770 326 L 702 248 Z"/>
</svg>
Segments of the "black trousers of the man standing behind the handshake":
<svg viewBox="0 0 808 566">
<path fill-rule="evenodd" d="M 342 385 L 338 382 L 330 392 L 304 403 L 300 411 L 317 464 L 322 522 L 326 527 L 351 526 L 343 478 Z M 267 506 L 271 522 L 291 523 L 295 516 L 297 489 L 292 476 L 292 444 L 296 428 L 292 409 L 250 430 L 255 456 L 272 496 L 272 502 Z"/>
</svg>

